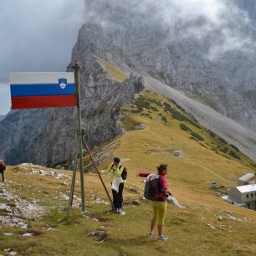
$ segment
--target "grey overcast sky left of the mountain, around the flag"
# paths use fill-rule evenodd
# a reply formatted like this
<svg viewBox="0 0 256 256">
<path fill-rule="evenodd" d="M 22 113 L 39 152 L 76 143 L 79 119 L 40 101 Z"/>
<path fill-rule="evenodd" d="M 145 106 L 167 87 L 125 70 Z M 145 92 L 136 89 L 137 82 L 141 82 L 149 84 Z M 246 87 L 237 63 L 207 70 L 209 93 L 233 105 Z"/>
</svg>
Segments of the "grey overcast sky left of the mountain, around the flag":
<svg viewBox="0 0 256 256">
<path fill-rule="evenodd" d="M 10 71 L 65 71 L 84 19 L 83 0 L 7 0 L 0 5 L 0 115 L 10 109 Z"/>
</svg>

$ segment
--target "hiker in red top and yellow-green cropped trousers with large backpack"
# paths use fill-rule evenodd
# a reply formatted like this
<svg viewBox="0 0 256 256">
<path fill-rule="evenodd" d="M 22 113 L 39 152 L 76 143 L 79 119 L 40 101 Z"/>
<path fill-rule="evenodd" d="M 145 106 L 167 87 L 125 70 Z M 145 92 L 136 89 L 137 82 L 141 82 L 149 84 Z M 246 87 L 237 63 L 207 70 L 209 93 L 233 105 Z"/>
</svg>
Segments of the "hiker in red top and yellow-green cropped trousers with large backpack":
<svg viewBox="0 0 256 256">
<path fill-rule="evenodd" d="M 157 223 L 158 229 L 158 241 L 168 241 L 169 239 L 163 235 L 163 225 L 166 218 L 166 200 L 172 193 L 168 189 L 166 182 L 166 174 L 168 172 L 168 166 L 161 164 L 157 167 L 157 174 L 140 173 L 138 177 L 146 177 L 146 185 L 144 196 L 146 199 L 152 201 L 153 217 L 151 219 L 150 232 L 148 237 L 153 237 L 153 231 Z"/>
</svg>

